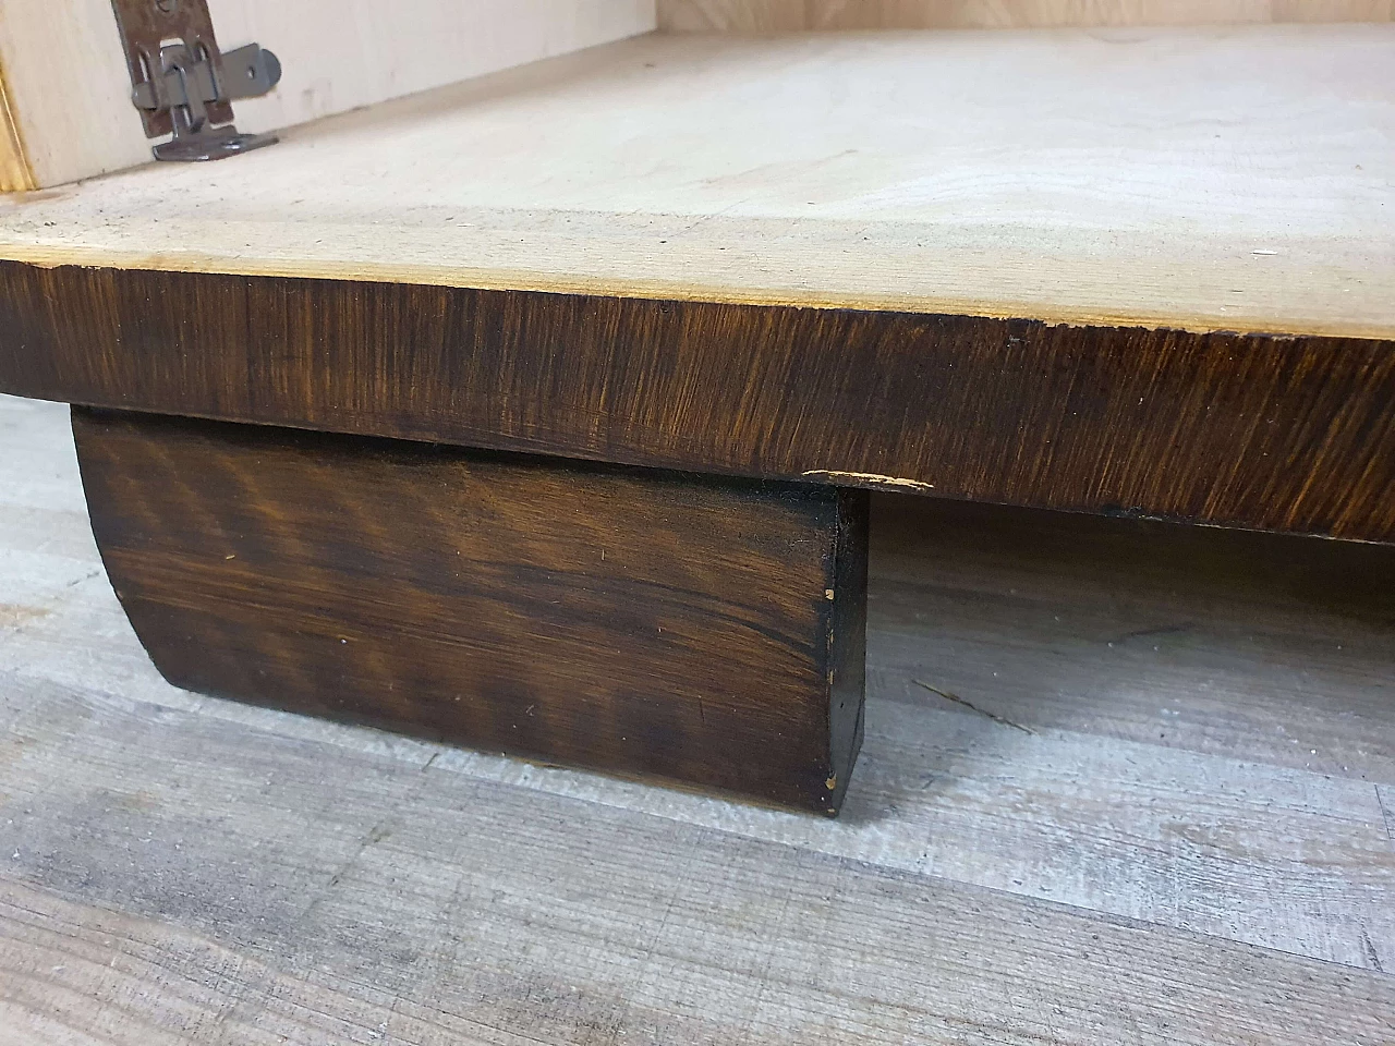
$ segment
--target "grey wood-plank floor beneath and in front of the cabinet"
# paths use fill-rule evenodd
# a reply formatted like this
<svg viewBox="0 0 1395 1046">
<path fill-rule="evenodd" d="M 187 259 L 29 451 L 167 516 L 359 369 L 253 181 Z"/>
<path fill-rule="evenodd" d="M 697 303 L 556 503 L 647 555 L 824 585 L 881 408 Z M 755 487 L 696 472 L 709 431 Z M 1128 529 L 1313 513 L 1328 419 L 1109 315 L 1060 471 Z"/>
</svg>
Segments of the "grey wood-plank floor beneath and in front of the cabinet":
<svg viewBox="0 0 1395 1046">
<path fill-rule="evenodd" d="M 826 821 L 167 686 L 0 397 L 0 1043 L 1395 1042 L 1395 548 L 884 498 Z"/>
</svg>

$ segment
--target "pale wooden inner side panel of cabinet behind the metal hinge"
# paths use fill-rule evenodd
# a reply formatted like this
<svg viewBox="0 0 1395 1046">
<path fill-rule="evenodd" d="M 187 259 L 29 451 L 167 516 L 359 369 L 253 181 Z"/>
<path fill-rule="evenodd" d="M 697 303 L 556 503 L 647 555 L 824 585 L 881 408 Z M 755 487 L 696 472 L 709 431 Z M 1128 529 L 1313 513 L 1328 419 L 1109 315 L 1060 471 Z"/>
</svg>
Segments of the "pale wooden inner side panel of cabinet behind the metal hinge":
<svg viewBox="0 0 1395 1046">
<path fill-rule="evenodd" d="M 237 124 L 250 131 L 654 28 L 654 0 L 209 0 L 209 11 L 222 47 L 255 40 L 282 60 L 272 95 L 237 103 Z M 31 172 L 28 183 L 4 177 L 0 187 L 57 185 L 149 159 L 110 0 L 6 3 L 0 66 Z"/>
</svg>

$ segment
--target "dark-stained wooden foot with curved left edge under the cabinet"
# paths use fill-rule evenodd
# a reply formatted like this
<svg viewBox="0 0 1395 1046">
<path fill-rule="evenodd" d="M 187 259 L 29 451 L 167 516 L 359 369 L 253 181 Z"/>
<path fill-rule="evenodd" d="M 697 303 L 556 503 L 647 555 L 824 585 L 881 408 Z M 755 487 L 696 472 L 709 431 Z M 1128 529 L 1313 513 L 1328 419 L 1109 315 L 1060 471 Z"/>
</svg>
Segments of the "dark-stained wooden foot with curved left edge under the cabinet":
<svg viewBox="0 0 1395 1046">
<path fill-rule="evenodd" d="M 866 494 L 75 407 L 177 686 L 836 813 Z"/>
</svg>

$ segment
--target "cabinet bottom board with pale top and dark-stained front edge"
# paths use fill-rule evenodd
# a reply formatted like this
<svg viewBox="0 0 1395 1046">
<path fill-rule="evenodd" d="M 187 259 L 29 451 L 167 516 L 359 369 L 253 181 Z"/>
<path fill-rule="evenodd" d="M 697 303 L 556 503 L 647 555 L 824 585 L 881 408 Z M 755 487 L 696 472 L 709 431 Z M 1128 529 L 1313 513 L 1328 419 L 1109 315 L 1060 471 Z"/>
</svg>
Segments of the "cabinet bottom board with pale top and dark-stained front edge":
<svg viewBox="0 0 1395 1046">
<path fill-rule="evenodd" d="M 1392 68 L 1389 25 L 643 36 L 0 202 L 0 389 L 1395 541 Z"/>
</svg>

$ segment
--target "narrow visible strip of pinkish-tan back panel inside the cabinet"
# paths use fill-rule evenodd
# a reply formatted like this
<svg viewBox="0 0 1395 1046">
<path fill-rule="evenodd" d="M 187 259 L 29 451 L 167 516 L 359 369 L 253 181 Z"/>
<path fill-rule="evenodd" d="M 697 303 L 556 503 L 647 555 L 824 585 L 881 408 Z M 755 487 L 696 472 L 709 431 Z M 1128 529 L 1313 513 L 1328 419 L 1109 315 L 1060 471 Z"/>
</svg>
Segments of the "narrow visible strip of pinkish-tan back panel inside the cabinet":
<svg viewBox="0 0 1395 1046">
<path fill-rule="evenodd" d="M 670 32 L 1388 22 L 1391 0 L 658 0 Z"/>
</svg>

